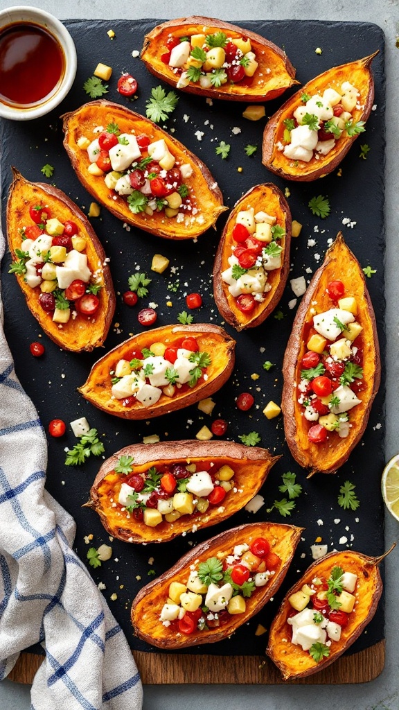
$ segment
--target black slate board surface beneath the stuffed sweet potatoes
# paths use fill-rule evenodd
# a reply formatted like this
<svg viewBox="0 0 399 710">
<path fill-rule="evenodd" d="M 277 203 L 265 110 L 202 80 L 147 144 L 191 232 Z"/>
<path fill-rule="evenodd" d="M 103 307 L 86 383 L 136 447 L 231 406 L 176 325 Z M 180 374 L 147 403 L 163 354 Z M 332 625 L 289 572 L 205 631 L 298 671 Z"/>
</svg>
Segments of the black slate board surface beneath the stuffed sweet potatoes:
<svg viewBox="0 0 399 710">
<path fill-rule="evenodd" d="M 59 116 L 75 109 L 87 100 L 82 90 L 84 81 L 92 75 L 97 62 L 104 62 L 113 67 L 113 75 L 109 81 L 109 93 L 106 98 L 120 102 L 140 113 L 145 112 L 146 100 L 151 87 L 160 82 L 149 75 L 141 61 L 132 58 L 132 50 L 140 50 L 143 36 L 159 21 L 69 21 L 69 28 L 75 40 L 78 54 L 78 72 L 75 84 L 65 102 L 50 116 L 36 121 L 1 123 L 1 168 L 2 168 L 2 207 L 11 181 L 10 165 L 29 180 L 43 181 L 40 168 L 45 163 L 55 166 L 54 180 L 57 187 L 64 190 L 72 200 L 87 211 L 92 198 L 84 191 L 78 182 L 72 167 L 62 148 L 62 130 Z M 167 122 L 168 130 L 190 150 L 197 153 L 212 171 L 224 194 L 225 204 L 229 207 L 258 182 L 275 181 L 285 190 L 288 187 L 293 218 L 303 224 L 299 239 L 293 239 L 291 278 L 305 275 L 310 279 L 312 273 L 322 262 L 329 244 L 339 230 L 344 232 L 349 247 L 359 258 L 361 266 L 371 266 L 376 274 L 368 280 L 376 317 L 380 342 L 383 349 L 383 255 L 384 255 L 384 224 L 383 224 L 383 168 L 384 168 L 384 72 L 383 72 L 383 32 L 381 28 L 369 23 L 332 23 L 332 22 L 239 22 L 244 27 L 264 35 L 283 47 L 293 65 L 297 67 L 297 78 L 305 83 L 329 67 L 359 59 L 380 50 L 373 60 L 373 75 L 376 80 L 376 110 L 371 113 L 367 132 L 356 141 L 349 155 L 341 163 L 342 175 L 337 171 L 323 180 L 310 184 L 285 183 L 271 175 L 261 165 L 261 139 L 264 121 L 256 123 L 246 121 L 241 114 L 246 104 L 215 101 L 209 105 L 205 99 L 180 94 L 179 104 L 172 118 Z M 109 28 L 114 29 L 116 37 L 110 40 L 106 35 Z M 322 48 L 322 55 L 315 53 L 316 47 Z M 116 92 L 116 81 L 120 72 L 129 71 L 138 80 L 138 99 L 128 102 Z M 271 115 L 282 99 L 266 104 L 266 112 Z M 185 121 L 185 116 L 189 119 Z M 232 129 L 239 127 L 241 133 L 234 134 Z M 198 141 L 195 131 L 203 131 L 202 141 Z M 231 144 L 227 160 L 222 160 L 215 154 L 214 148 L 220 141 Z M 258 151 L 248 158 L 244 152 L 247 143 L 256 144 Z M 360 144 L 368 143 L 371 150 L 367 160 L 359 158 Z M 238 168 L 242 167 L 242 172 Z M 50 182 L 50 180 L 48 180 Z M 318 219 L 312 215 L 307 203 L 314 195 L 328 195 L 331 203 L 331 214 L 328 219 Z M 353 228 L 344 226 L 342 220 L 349 217 L 356 222 Z M 200 311 L 194 311 L 195 322 L 215 322 L 220 324 L 212 297 L 212 263 L 217 242 L 222 230 L 225 216 L 220 219 L 217 231 L 209 230 L 198 239 L 197 243 L 174 244 L 171 241 L 158 239 L 138 229 L 126 231 L 121 222 L 102 209 L 99 219 L 93 219 L 94 229 L 104 244 L 106 253 L 111 258 L 111 272 L 116 291 L 123 293 L 127 288 L 129 275 L 136 266 L 141 271 L 150 272 L 153 253 L 160 252 L 170 258 L 169 269 L 162 276 L 151 274 L 150 293 L 142 305 L 154 301 L 158 303 L 157 325 L 176 321 L 177 314 L 185 310 L 185 293 L 199 291 L 204 298 Z M 315 246 L 307 246 L 308 239 L 315 239 Z M 319 259 L 315 258 L 319 254 Z M 16 373 L 21 383 L 33 399 L 40 414 L 43 426 L 54 417 L 61 417 L 69 422 L 80 416 L 87 416 L 92 427 L 97 427 L 101 433 L 106 455 L 110 456 L 117 449 L 130 443 L 141 442 L 143 436 L 156 433 L 161 439 L 179 439 L 195 437 L 203 424 L 209 425 L 212 419 L 202 417 L 196 406 L 180 413 L 160 417 L 150 422 L 125 422 L 104 413 L 89 405 L 77 393 L 76 388 L 87 378 L 90 366 L 101 356 L 100 353 L 71 354 L 60 349 L 43 335 L 45 356 L 33 359 L 29 354 L 29 344 L 40 337 L 40 328 L 28 312 L 22 293 L 16 285 L 13 276 L 8 275 L 9 258 L 4 258 L 2 265 L 2 284 L 5 311 L 6 337 L 13 353 Z M 176 293 L 168 290 L 170 283 L 180 280 L 180 288 Z M 133 546 L 114 540 L 112 544 L 113 557 L 100 569 L 93 571 L 96 583 L 106 584 L 104 595 L 109 600 L 116 592 L 117 601 L 109 602 L 129 639 L 132 648 L 151 650 L 148 645 L 133 637 L 129 621 L 131 601 L 137 591 L 152 579 L 154 570 L 158 575 L 168 569 L 180 555 L 190 546 L 195 545 L 211 535 L 222 530 L 253 522 L 254 520 L 282 521 L 276 510 L 270 514 L 267 508 L 273 501 L 283 497 L 278 491 L 280 476 L 285 471 L 295 471 L 297 480 L 303 486 L 303 493 L 297 499 L 297 508 L 290 518 L 285 519 L 306 528 L 302 541 L 297 549 L 294 562 L 285 583 L 266 608 L 253 618 L 244 628 L 241 628 L 230 640 L 217 645 L 200 647 L 201 652 L 210 654 L 262 654 L 266 646 L 266 637 L 255 637 L 254 631 L 258 623 L 266 628 L 275 614 L 278 602 L 285 591 L 311 562 L 310 545 L 317 537 L 327 543 L 329 550 L 353 547 L 354 550 L 368 555 L 379 555 L 383 552 L 383 506 L 380 494 L 380 476 L 384 463 L 383 455 L 383 391 L 384 383 L 373 405 L 371 417 L 362 442 L 351 454 L 349 461 L 342 466 L 335 476 L 314 476 L 307 480 L 305 472 L 300 469 L 290 457 L 284 441 L 283 421 L 281 417 L 271 421 L 266 420 L 262 410 L 270 399 L 280 402 L 282 376 L 280 372 L 285 344 L 295 315 L 295 308 L 290 310 L 288 302 L 294 297 L 288 285 L 274 315 L 258 329 L 239 335 L 233 329 L 227 330 L 236 336 L 236 369 L 229 383 L 214 395 L 217 403 L 214 416 L 223 417 L 229 421 L 227 438 L 238 440 L 238 436 L 256 430 L 261 435 L 261 445 L 272 452 L 283 454 L 276 464 L 264 486 L 263 496 L 266 505 L 255 516 L 241 511 L 229 521 L 214 528 L 198 531 L 195 535 L 165 545 Z M 171 300 L 172 307 L 165 303 Z M 114 327 L 111 327 L 106 341 L 106 349 L 119 344 L 133 332 L 139 332 L 136 320 L 138 307 L 129 309 L 117 300 Z M 278 320 L 277 312 L 284 317 Z M 118 323 L 119 325 L 116 325 Z M 275 366 L 265 371 L 263 362 L 270 360 Z M 257 373 L 259 378 L 253 380 L 251 375 Z M 236 409 L 234 398 L 243 391 L 253 393 L 256 406 L 248 413 Z M 63 465 L 64 449 L 75 444 L 71 431 L 62 439 L 49 437 L 48 491 L 72 513 L 77 523 L 75 549 L 86 558 L 87 545 L 84 535 L 92 533 L 92 544 L 98 547 L 102 542 L 109 542 L 104 528 L 97 515 L 82 508 L 87 501 L 90 485 L 97 473 L 99 461 L 89 460 L 82 469 L 67 468 Z M 349 479 L 356 484 L 356 494 L 361 506 L 356 513 L 344 511 L 337 505 L 339 487 Z M 339 520 L 339 522 L 336 522 Z M 347 542 L 339 542 L 346 537 Z M 151 561 L 153 558 L 153 562 Z M 150 560 L 150 562 L 149 562 Z M 150 576 L 148 576 L 148 572 Z M 141 579 L 137 579 L 140 577 Z M 383 605 L 380 604 L 374 620 L 366 632 L 351 648 L 351 652 L 362 650 L 383 638 Z M 196 652 L 197 649 L 188 652 Z"/>
</svg>

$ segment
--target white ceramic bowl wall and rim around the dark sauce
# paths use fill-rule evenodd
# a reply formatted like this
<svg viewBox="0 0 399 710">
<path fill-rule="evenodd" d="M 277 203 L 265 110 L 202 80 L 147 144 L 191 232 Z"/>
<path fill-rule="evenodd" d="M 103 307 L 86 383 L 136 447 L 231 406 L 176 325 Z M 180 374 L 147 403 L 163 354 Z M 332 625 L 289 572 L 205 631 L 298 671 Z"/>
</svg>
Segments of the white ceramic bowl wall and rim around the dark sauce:
<svg viewBox="0 0 399 710">
<path fill-rule="evenodd" d="M 43 99 L 43 102 L 32 106 L 20 107 L 13 106 L 11 103 L 5 103 L 0 97 L 0 116 L 13 121 L 29 121 L 53 111 L 53 109 L 62 102 L 62 99 L 65 99 L 75 79 L 77 56 L 75 44 L 67 28 L 65 28 L 60 20 L 50 15 L 50 13 L 40 10 L 39 8 L 20 5 L 0 11 L 0 31 L 18 22 L 27 24 L 32 22 L 50 32 L 53 37 L 58 40 L 65 60 L 65 72 L 57 89 L 53 94 L 50 94 L 48 99 Z"/>
</svg>

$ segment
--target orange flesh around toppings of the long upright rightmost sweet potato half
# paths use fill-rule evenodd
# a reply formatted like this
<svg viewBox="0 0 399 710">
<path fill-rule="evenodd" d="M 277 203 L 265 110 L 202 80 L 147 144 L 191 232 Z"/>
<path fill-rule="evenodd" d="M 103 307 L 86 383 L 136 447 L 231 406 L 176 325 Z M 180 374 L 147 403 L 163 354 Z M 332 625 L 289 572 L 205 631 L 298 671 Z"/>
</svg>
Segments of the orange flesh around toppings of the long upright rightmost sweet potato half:
<svg viewBox="0 0 399 710">
<path fill-rule="evenodd" d="M 345 294 L 353 295 L 358 305 L 356 320 L 363 331 L 356 339 L 356 344 L 364 349 L 364 389 L 359 398 L 361 404 L 351 410 L 352 424 L 349 436 L 340 438 L 337 432 L 329 432 L 326 442 L 312 444 L 307 437 L 310 425 L 302 415 L 303 408 L 297 402 L 295 383 L 300 381 L 302 356 L 307 351 L 306 340 L 310 323 L 315 312 L 322 313 L 336 307 L 328 293 L 327 285 L 334 280 L 341 280 Z M 312 308 L 312 313 L 310 309 Z M 327 250 L 322 266 L 316 271 L 307 288 L 302 303 L 295 316 L 293 331 L 288 340 L 283 361 L 283 400 L 285 437 L 295 460 L 310 473 L 321 472 L 334 474 L 339 466 L 348 459 L 366 429 L 368 415 L 373 399 L 378 391 L 381 378 L 381 361 L 376 332 L 376 319 L 368 295 L 366 280 L 361 266 L 354 254 L 346 246 L 341 232 L 334 244 Z"/>
</svg>

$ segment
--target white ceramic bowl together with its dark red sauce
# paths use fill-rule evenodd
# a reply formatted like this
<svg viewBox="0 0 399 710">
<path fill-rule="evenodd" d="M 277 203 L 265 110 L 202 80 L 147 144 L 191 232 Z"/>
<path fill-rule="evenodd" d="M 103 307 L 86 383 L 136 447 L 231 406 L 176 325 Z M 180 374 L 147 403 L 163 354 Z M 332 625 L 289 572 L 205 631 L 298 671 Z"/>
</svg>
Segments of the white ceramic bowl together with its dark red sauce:
<svg viewBox="0 0 399 710">
<path fill-rule="evenodd" d="M 57 18 L 34 7 L 0 12 L 0 116 L 28 121 L 48 114 L 76 70 L 75 44 Z"/>
</svg>

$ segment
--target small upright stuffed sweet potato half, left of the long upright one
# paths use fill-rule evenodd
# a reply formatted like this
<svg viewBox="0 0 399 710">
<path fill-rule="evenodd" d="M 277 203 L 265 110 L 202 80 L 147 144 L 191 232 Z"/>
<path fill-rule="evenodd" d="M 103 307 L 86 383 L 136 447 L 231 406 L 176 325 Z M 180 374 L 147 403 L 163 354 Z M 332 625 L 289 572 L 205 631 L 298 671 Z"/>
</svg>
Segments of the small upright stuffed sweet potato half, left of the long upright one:
<svg viewBox="0 0 399 710">
<path fill-rule="evenodd" d="M 214 300 L 237 330 L 262 323 L 290 270 L 291 214 L 278 187 L 256 185 L 236 202 L 214 261 Z"/>
</svg>

